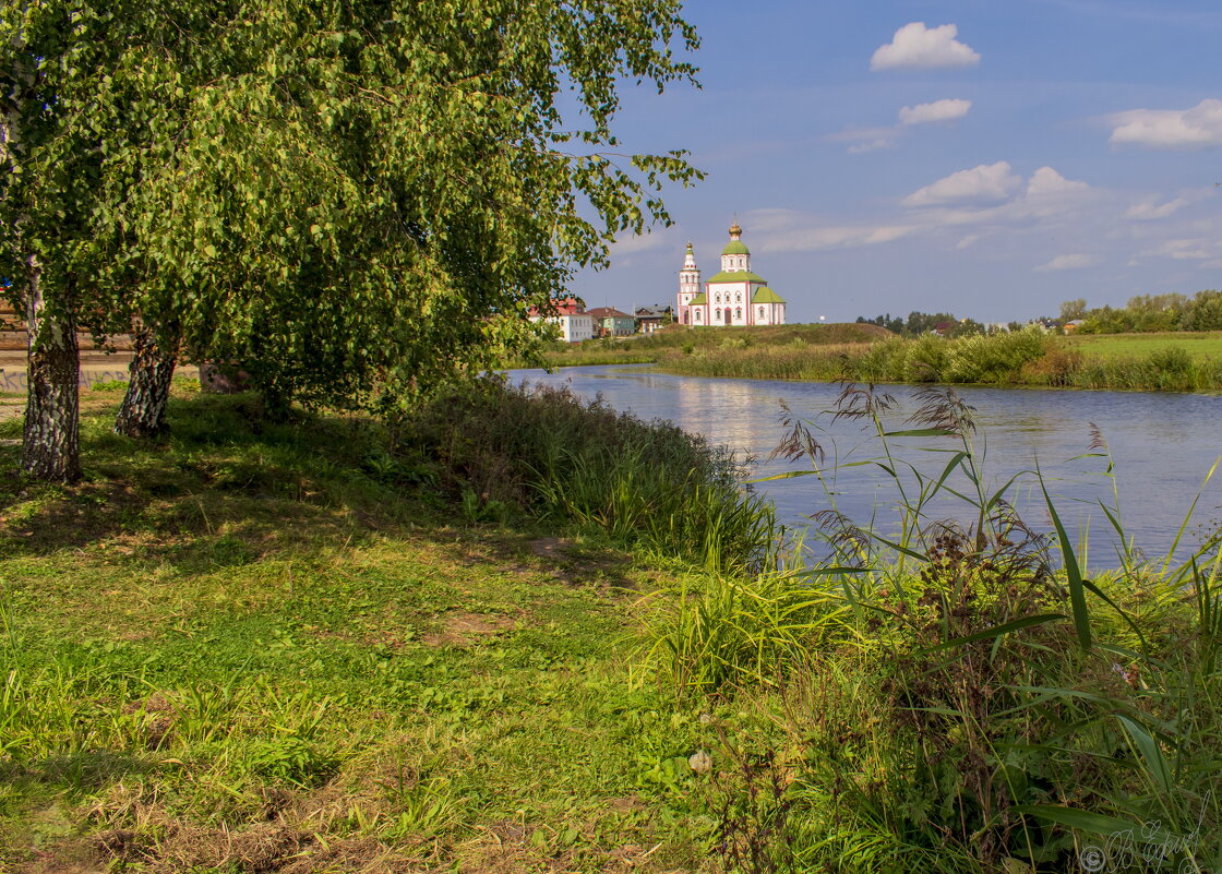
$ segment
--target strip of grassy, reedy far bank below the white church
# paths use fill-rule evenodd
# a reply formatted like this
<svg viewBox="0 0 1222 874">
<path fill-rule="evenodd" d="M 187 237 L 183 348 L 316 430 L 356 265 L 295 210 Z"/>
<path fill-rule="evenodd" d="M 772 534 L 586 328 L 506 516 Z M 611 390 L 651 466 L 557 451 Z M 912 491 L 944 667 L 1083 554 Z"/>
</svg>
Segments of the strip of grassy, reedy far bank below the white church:
<svg viewBox="0 0 1222 874">
<path fill-rule="evenodd" d="M 854 331 L 853 329 L 860 329 Z M 686 376 L 1222 391 L 1222 335 L 1051 336 L 1039 328 L 946 339 L 874 325 L 694 329 L 554 350 L 550 365 L 649 363 Z"/>
</svg>

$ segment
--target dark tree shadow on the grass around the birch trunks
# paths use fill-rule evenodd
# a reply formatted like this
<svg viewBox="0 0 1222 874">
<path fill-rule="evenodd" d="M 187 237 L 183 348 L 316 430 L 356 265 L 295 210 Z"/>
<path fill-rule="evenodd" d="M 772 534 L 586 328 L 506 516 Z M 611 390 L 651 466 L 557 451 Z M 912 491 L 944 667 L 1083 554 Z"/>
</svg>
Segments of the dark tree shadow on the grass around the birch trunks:
<svg viewBox="0 0 1222 874">
<path fill-rule="evenodd" d="M 402 471 L 369 465 L 386 434 L 364 418 L 269 423 L 248 396 L 200 396 L 171 403 L 170 436 L 150 443 L 112 434 L 111 416 L 83 419 L 86 478 L 76 485 L 31 482 L 17 473 L 20 449 L 0 447 L 0 553 L 121 542 L 127 553 L 205 571 L 397 529 L 440 502 Z"/>
</svg>

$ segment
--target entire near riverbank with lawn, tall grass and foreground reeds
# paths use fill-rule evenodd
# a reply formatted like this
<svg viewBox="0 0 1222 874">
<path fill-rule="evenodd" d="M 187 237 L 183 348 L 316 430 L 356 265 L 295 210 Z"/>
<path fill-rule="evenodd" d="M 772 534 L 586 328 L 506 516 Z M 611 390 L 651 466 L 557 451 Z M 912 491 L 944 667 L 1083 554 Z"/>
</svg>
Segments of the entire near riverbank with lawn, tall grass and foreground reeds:
<svg viewBox="0 0 1222 874">
<path fill-rule="evenodd" d="M 810 550 L 733 457 L 566 392 L 390 425 L 189 387 L 155 446 L 92 392 L 84 482 L 2 484 L 2 865 L 1222 867 L 1217 539 L 1145 560 L 1105 507 L 1085 578 L 951 392 L 829 413 L 895 473 L 895 535 L 788 413 Z M 969 521 L 931 522 L 952 490 Z"/>
</svg>

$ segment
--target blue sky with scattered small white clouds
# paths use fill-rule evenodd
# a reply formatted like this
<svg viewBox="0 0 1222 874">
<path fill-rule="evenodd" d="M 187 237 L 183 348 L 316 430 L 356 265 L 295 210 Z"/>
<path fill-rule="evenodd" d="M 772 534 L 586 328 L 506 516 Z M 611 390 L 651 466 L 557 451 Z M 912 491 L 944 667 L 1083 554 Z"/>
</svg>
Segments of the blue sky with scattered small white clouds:
<svg viewBox="0 0 1222 874">
<path fill-rule="evenodd" d="M 737 219 L 791 323 L 1222 288 L 1222 2 L 689 0 L 701 88 L 623 93 L 624 150 L 686 149 L 675 225 L 577 275 L 675 303 Z"/>
</svg>

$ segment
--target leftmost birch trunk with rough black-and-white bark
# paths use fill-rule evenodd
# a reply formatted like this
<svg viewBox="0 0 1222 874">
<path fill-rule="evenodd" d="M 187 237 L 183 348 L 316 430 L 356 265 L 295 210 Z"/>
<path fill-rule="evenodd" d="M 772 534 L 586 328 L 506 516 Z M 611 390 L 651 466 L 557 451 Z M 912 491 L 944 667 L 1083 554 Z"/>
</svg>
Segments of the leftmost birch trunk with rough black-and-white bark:
<svg viewBox="0 0 1222 874">
<path fill-rule="evenodd" d="M 43 302 L 38 262 L 29 259 L 26 330 L 29 335 L 29 395 L 21 467 L 31 477 L 60 483 L 81 478 L 81 358 L 71 315 L 56 317 Z"/>
</svg>

